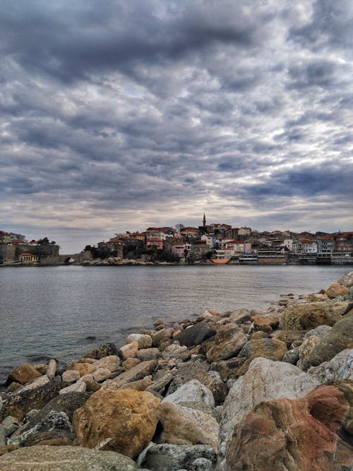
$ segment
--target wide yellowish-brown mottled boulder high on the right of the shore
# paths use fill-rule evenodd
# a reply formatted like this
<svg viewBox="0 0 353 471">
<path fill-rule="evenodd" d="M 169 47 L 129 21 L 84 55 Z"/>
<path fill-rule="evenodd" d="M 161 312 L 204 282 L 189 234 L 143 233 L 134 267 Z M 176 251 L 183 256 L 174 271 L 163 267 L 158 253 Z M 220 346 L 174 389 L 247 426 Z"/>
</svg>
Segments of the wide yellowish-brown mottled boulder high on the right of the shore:
<svg viewBox="0 0 353 471">
<path fill-rule="evenodd" d="M 333 326 L 340 320 L 340 311 L 333 309 L 333 302 L 309 302 L 293 304 L 283 311 L 280 328 L 284 330 L 310 330 L 318 326 Z"/>
</svg>

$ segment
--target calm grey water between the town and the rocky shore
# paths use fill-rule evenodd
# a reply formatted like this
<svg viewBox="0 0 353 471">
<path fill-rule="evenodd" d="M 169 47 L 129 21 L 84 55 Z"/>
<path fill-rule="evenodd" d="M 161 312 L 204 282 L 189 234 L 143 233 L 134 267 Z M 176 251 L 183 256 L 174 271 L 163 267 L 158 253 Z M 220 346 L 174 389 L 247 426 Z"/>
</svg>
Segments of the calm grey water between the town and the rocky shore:
<svg viewBox="0 0 353 471">
<path fill-rule="evenodd" d="M 328 287 L 349 267 L 189 266 L 0 269 L 0 383 L 23 362 L 68 360 L 103 342 L 123 345 L 157 318 L 258 308 L 280 294 Z M 95 339 L 87 339 L 94 336 Z"/>
</svg>

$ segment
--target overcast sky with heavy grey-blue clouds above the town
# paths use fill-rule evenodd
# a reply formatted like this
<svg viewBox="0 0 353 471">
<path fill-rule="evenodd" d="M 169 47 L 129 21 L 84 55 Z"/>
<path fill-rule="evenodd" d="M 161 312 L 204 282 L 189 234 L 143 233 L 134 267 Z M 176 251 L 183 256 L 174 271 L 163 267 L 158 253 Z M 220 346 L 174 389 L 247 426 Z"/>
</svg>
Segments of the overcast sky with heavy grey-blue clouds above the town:
<svg viewBox="0 0 353 471">
<path fill-rule="evenodd" d="M 0 229 L 353 230 L 352 0 L 1 0 Z"/>
</svg>

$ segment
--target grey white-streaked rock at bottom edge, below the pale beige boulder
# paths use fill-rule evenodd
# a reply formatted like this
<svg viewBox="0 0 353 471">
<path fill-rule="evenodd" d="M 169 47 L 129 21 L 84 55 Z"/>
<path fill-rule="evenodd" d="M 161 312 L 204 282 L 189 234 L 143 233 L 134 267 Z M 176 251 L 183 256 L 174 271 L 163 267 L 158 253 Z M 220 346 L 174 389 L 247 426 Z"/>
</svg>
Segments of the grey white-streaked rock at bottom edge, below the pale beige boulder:
<svg viewBox="0 0 353 471">
<path fill-rule="evenodd" d="M 208 445 L 152 445 L 145 453 L 145 459 L 141 465 L 151 471 L 181 471 L 205 468 L 196 467 L 200 458 L 209 460 L 215 467 L 217 455 L 213 448 Z M 211 469 L 213 469 L 211 468 Z M 207 468 L 206 468 L 207 470 Z"/>
</svg>

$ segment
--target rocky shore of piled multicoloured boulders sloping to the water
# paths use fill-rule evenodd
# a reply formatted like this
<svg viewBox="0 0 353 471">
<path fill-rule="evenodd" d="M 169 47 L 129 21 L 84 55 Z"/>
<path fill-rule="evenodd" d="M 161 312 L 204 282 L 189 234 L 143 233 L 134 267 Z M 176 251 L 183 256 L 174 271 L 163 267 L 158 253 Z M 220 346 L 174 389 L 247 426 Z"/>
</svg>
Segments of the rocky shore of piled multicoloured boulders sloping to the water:
<svg viewBox="0 0 353 471">
<path fill-rule="evenodd" d="M 0 393 L 0 469 L 352 470 L 353 272 L 23 364 Z"/>
</svg>

